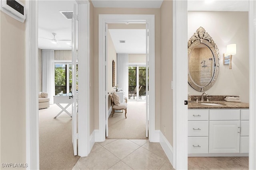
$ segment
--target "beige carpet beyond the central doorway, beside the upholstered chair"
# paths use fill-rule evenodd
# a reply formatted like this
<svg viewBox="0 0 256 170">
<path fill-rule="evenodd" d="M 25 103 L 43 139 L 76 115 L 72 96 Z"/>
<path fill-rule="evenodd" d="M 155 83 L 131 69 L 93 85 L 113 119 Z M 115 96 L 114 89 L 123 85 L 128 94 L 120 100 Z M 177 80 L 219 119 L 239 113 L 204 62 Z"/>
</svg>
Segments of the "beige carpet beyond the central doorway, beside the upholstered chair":
<svg viewBox="0 0 256 170">
<path fill-rule="evenodd" d="M 128 101 L 127 119 L 123 113 L 108 118 L 107 139 L 147 139 L 146 102 Z"/>
</svg>

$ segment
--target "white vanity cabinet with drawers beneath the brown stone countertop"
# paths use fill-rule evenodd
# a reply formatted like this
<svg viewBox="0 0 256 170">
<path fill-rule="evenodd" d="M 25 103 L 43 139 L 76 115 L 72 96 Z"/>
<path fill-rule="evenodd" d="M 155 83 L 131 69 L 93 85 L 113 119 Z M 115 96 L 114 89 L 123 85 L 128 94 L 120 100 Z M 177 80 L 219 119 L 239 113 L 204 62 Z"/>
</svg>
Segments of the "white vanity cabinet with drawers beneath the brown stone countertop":
<svg viewBox="0 0 256 170">
<path fill-rule="evenodd" d="M 188 109 L 188 154 L 248 153 L 248 146 L 249 109 Z"/>
</svg>

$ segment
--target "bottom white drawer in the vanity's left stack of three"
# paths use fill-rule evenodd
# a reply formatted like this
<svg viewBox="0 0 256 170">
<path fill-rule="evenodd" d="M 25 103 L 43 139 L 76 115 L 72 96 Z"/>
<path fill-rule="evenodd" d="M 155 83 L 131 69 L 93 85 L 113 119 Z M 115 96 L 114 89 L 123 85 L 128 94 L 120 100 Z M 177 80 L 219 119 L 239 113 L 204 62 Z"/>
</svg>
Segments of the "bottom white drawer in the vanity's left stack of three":
<svg viewBox="0 0 256 170">
<path fill-rule="evenodd" d="M 208 137 L 188 137 L 188 154 L 208 153 Z"/>
</svg>

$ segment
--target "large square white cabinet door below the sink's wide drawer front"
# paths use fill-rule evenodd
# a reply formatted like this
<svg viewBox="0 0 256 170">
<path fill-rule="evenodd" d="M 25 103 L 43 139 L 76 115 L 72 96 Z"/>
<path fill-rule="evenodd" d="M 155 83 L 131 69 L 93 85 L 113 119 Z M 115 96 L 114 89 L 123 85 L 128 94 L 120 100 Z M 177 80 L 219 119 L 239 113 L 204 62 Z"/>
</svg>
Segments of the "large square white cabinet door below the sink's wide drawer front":
<svg viewBox="0 0 256 170">
<path fill-rule="evenodd" d="M 240 121 L 210 121 L 209 153 L 240 152 Z"/>
</svg>

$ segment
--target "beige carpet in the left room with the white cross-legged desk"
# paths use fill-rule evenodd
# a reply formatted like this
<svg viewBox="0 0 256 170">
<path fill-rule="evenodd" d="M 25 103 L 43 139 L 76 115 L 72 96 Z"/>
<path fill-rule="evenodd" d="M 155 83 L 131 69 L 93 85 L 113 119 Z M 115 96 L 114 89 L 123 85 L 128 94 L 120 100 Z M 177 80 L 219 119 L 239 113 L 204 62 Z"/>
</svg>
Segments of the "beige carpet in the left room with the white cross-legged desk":
<svg viewBox="0 0 256 170">
<path fill-rule="evenodd" d="M 71 106 L 67 109 L 71 112 Z M 72 118 L 57 105 L 39 109 L 40 170 L 71 170 L 80 156 L 74 156 L 72 146 Z"/>
</svg>

